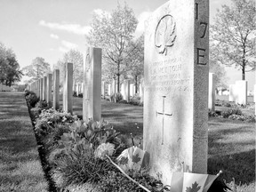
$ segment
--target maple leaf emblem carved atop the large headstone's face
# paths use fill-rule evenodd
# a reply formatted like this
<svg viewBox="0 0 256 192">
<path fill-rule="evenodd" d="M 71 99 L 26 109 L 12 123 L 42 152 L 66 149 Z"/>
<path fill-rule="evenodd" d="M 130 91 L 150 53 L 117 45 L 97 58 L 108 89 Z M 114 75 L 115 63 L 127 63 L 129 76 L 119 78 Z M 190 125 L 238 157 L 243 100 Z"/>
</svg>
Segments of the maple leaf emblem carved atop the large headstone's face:
<svg viewBox="0 0 256 192">
<path fill-rule="evenodd" d="M 167 47 L 172 47 L 176 39 L 176 22 L 172 15 L 167 14 L 156 26 L 155 45 L 160 54 L 167 54 Z"/>
</svg>

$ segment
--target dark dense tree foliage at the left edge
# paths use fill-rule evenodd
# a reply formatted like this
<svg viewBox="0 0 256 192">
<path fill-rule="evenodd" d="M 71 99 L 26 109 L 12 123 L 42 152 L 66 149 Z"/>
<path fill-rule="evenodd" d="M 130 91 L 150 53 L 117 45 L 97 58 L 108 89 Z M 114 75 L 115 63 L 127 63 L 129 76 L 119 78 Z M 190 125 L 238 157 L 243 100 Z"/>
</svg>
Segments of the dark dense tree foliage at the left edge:
<svg viewBox="0 0 256 192">
<path fill-rule="evenodd" d="M 0 43 L 0 83 L 11 86 L 19 82 L 22 73 L 15 53 Z"/>
</svg>

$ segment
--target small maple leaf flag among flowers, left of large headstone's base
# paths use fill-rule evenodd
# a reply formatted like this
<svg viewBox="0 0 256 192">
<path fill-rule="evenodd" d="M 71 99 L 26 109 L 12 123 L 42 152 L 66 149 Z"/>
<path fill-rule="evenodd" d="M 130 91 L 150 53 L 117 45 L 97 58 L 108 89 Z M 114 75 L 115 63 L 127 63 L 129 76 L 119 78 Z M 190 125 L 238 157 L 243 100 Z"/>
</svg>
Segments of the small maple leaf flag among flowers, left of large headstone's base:
<svg viewBox="0 0 256 192">
<path fill-rule="evenodd" d="M 117 164 L 124 170 L 140 171 L 149 163 L 148 153 L 138 147 L 126 148 L 120 156 L 117 156 Z"/>
</svg>

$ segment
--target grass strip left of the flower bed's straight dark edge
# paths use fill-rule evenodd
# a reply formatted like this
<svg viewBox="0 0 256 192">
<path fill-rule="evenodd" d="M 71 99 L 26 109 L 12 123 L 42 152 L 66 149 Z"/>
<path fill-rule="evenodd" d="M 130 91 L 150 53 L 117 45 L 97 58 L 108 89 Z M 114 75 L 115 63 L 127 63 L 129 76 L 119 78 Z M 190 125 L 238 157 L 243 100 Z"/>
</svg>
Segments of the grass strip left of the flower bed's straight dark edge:
<svg viewBox="0 0 256 192">
<path fill-rule="evenodd" d="M 0 191 L 47 191 L 24 92 L 0 92 Z"/>
</svg>

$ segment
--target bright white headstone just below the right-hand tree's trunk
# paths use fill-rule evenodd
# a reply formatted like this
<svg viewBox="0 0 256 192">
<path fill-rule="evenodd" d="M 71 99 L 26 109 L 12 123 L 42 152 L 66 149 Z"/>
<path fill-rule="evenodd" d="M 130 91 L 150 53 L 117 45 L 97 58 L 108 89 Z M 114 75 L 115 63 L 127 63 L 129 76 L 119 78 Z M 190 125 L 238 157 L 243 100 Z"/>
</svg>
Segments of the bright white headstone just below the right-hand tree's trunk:
<svg viewBox="0 0 256 192">
<path fill-rule="evenodd" d="M 247 104 L 247 84 L 245 80 L 236 81 L 236 104 Z"/>
</svg>

